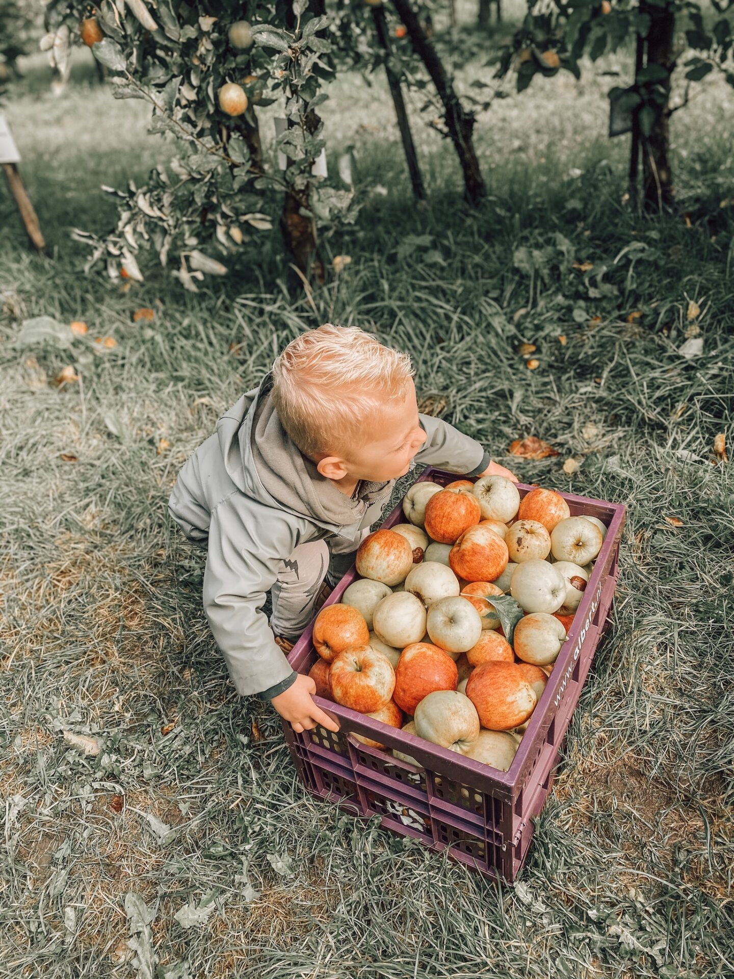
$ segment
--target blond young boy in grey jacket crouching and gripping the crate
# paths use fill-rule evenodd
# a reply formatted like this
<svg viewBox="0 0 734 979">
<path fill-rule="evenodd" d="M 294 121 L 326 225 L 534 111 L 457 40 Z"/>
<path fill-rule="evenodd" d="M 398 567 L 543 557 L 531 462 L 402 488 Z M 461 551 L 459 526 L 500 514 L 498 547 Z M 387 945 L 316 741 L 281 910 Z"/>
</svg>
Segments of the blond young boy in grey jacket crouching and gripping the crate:
<svg viewBox="0 0 734 979">
<path fill-rule="evenodd" d="M 295 731 L 339 725 L 314 704 L 316 684 L 294 672 L 284 649 L 310 621 L 325 578 L 334 585 L 352 564 L 414 459 L 515 480 L 480 443 L 419 414 L 406 353 L 327 323 L 288 345 L 178 476 L 168 509 L 206 548 L 206 617 L 232 681 L 241 695 L 269 700 Z M 270 626 L 261 611 L 269 589 Z"/>
</svg>

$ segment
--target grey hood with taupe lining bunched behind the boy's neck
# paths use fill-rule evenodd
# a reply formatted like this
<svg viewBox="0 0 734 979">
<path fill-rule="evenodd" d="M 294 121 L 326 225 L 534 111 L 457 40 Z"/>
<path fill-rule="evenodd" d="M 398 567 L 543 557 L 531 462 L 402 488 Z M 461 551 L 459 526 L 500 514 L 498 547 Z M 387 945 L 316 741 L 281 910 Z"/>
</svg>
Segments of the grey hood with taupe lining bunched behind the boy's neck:
<svg viewBox="0 0 734 979">
<path fill-rule="evenodd" d="M 219 419 L 216 434 L 227 474 L 259 502 L 353 539 L 367 510 L 390 498 L 394 480 L 362 482 L 353 496 L 346 496 L 319 473 L 283 428 L 271 390 L 272 375 L 267 374 Z"/>
</svg>

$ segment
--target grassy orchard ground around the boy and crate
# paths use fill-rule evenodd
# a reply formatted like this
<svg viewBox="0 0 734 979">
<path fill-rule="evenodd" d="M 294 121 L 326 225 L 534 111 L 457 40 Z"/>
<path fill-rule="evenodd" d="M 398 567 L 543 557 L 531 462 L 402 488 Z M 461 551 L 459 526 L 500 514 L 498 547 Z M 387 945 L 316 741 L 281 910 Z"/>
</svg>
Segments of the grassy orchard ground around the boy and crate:
<svg viewBox="0 0 734 979">
<path fill-rule="evenodd" d="M 731 435 L 734 99 L 710 77 L 674 115 L 688 217 L 643 219 L 621 200 L 628 139 L 607 139 L 615 68 L 629 57 L 480 117 L 477 212 L 414 114 L 417 208 L 383 79 L 342 78 L 322 107 L 330 166 L 353 147 L 365 203 L 322 234 L 351 261 L 309 300 L 277 234 L 198 295 L 155 266 L 127 291 L 85 277 L 70 228 L 104 232 L 100 185 L 141 183 L 170 147 L 88 52 L 59 99 L 31 59 L 8 116 L 53 260 L 26 251 L 3 192 L 1 974 L 146 975 L 131 892 L 169 977 L 732 974 L 734 486 L 712 443 Z M 487 74 L 475 59 L 462 85 Z M 143 306 L 155 318 L 134 322 Z M 46 314 L 89 333 L 17 347 Z M 524 481 L 629 508 L 615 626 L 514 889 L 305 794 L 272 709 L 227 682 L 202 561 L 169 527 L 189 453 L 324 321 L 410 350 L 420 396 Z M 55 386 L 69 364 L 79 380 Z M 506 457 L 529 435 L 560 454 Z"/>
</svg>

